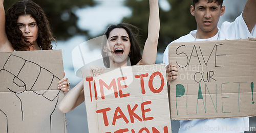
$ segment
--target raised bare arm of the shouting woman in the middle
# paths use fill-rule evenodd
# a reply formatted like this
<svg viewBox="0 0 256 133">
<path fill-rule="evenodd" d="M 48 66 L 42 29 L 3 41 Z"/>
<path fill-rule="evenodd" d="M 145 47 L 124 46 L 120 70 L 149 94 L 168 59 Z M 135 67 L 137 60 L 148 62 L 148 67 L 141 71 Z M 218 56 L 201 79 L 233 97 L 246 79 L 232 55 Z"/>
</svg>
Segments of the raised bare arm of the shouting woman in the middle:
<svg viewBox="0 0 256 133">
<path fill-rule="evenodd" d="M 150 18 L 148 20 L 148 35 L 145 42 L 142 59 L 138 64 L 155 64 L 157 44 L 160 30 L 158 0 L 150 0 Z"/>
</svg>

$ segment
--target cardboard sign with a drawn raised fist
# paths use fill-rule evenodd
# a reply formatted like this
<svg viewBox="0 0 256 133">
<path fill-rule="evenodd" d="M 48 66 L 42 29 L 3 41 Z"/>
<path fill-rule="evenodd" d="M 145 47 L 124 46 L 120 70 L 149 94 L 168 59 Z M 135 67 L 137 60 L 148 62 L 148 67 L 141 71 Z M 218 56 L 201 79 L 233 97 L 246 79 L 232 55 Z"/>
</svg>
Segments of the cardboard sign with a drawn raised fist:
<svg viewBox="0 0 256 133">
<path fill-rule="evenodd" d="M 0 52 L 0 132 L 66 132 L 61 50 Z"/>
</svg>

